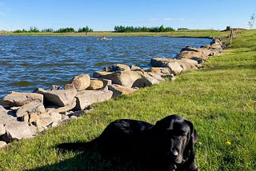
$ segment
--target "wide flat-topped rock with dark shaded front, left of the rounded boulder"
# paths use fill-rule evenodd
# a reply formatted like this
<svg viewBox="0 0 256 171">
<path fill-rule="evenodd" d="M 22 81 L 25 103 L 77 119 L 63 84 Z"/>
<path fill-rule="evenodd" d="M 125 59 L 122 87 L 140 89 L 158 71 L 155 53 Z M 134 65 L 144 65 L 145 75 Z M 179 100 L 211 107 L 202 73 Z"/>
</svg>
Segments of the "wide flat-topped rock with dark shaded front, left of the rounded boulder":
<svg viewBox="0 0 256 171">
<path fill-rule="evenodd" d="M 59 89 L 45 90 L 38 88 L 38 93 L 42 93 L 46 101 L 50 101 L 54 105 L 66 106 L 74 101 L 74 96 L 77 94 L 77 89 Z"/>
</svg>

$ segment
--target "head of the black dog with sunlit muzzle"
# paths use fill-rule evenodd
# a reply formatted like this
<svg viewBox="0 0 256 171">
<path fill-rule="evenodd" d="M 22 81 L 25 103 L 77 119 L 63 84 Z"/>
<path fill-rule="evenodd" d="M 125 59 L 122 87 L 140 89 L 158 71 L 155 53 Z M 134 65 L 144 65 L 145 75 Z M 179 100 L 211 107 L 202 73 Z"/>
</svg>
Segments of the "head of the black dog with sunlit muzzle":
<svg viewBox="0 0 256 171">
<path fill-rule="evenodd" d="M 198 134 L 190 121 L 178 115 L 170 115 L 154 125 L 161 141 L 162 151 L 168 160 L 176 164 L 186 162 L 193 152 Z"/>
</svg>

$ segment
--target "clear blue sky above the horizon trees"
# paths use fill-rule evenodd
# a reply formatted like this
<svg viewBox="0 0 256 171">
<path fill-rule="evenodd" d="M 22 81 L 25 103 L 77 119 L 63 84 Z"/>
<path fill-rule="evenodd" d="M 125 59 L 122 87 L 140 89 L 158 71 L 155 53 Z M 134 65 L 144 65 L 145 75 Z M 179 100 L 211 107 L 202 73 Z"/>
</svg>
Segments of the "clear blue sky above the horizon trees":
<svg viewBox="0 0 256 171">
<path fill-rule="evenodd" d="M 224 30 L 249 28 L 254 13 L 255 0 L 0 0 L 0 30 L 161 25 Z"/>
</svg>

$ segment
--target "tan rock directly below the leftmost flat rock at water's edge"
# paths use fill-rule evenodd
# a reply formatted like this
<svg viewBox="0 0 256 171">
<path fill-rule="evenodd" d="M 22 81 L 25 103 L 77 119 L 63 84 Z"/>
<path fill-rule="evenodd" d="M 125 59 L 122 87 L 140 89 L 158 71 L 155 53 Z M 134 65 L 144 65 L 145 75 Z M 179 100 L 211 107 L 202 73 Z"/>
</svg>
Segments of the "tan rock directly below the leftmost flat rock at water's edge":
<svg viewBox="0 0 256 171">
<path fill-rule="evenodd" d="M 25 105 L 22 105 L 16 113 L 17 117 L 23 117 L 24 115 L 36 113 L 46 113 L 45 106 L 42 104 L 42 101 L 30 101 L 30 103 L 26 103 Z"/>
</svg>

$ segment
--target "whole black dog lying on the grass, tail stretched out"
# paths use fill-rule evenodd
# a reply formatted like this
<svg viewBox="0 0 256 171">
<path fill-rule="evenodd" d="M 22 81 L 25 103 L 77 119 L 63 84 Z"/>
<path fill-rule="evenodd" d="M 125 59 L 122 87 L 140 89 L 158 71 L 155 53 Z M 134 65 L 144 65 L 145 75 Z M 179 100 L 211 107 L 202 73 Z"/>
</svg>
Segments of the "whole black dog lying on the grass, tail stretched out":
<svg viewBox="0 0 256 171">
<path fill-rule="evenodd" d="M 85 150 L 95 147 L 102 157 L 138 161 L 154 170 L 198 170 L 194 144 L 198 134 L 190 121 L 170 115 L 155 125 L 144 121 L 113 121 L 90 142 L 63 143 L 59 149 Z"/>
</svg>

